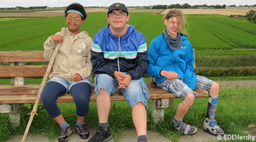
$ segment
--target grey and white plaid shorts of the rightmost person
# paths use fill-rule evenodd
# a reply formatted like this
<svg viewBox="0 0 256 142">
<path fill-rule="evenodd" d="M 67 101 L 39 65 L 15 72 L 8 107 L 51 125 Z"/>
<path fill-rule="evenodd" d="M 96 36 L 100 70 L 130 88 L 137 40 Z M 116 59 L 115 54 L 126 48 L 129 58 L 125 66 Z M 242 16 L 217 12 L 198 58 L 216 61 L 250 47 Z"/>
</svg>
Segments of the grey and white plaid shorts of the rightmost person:
<svg viewBox="0 0 256 142">
<path fill-rule="evenodd" d="M 213 83 L 214 81 L 209 80 L 207 77 L 196 75 L 195 89 L 204 89 L 209 92 Z M 182 98 L 183 100 L 189 93 L 193 93 L 195 97 L 197 95 L 195 91 L 193 91 L 188 87 L 186 83 L 184 83 L 183 79 L 177 78 L 173 80 L 165 80 L 158 83 L 157 86 L 163 90 L 172 92 L 175 96 Z"/>
</svg>

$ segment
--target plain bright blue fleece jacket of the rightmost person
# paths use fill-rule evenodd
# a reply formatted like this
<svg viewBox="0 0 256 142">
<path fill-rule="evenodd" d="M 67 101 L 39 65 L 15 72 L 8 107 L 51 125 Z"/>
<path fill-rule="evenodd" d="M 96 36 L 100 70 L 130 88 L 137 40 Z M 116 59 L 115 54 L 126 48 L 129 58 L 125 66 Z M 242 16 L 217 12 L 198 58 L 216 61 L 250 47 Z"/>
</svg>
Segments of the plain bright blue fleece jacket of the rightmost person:
<svg viewBox="0 0 256 142">
<path fill-rule="evenodd" d="M 184 83 L 194 90 L 196 85 L 194 51 L 187 37 L 183 34 L 181 37 L 181 48 L 175 51 L 169 48 L 163 34 L 152 40 L 148 52 L 148 74 L 155 76 L 156 83 L 160 83 L 167 80 L 164 76 L 160 76 L 162 69 L 175 72 L 179 75 L 178 78 L 184 79 Z"/>
</svg>

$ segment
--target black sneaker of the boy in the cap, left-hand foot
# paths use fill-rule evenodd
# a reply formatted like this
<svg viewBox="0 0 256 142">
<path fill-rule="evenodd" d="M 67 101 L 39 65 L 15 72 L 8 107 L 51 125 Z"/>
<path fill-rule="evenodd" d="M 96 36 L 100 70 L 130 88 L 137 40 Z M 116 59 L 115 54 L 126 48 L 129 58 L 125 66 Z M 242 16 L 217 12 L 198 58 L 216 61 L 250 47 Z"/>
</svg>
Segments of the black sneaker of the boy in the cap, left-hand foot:
<svg viewBox="0 0 256 142">
<path fill-rule="evenodd" d="M 107 128 L 107 132 L 101 128 L 98 128 L 92 138 L 88 142 L 105 142 L 111 140 L 111 131 Z"/>
</svg>

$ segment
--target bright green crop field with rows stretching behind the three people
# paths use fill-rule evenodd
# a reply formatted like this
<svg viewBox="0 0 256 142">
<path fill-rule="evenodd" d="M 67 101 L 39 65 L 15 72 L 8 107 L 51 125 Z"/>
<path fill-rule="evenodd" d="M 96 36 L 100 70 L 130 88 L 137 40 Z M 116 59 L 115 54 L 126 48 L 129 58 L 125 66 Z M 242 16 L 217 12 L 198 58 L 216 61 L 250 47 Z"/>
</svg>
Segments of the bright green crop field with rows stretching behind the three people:
<svg viewBox="0 0 256 142">
<path fill-rule="evenodd" d="M 164 15 L 157 13 L 159 11 L 129 13 L 128 24 L 144 34 L 148 48 L 153 38 L 165 29 Z M 253 69 L 256 66 L 255 23 L 213 14 L 189 14 L 186 20 L 187 37 L 196 50 L 199 69 L 240 66 Z M 81 30 L 93 38 L 107 24 L 106 13 L 87 13 Z M 0 21 L 0 50 L 43 50 L 43 42 L 62 27 L 67 27 L 63 16 Z M 247 76 L 255 76 L 255 68 L 252 72 Z"/>
</svg>

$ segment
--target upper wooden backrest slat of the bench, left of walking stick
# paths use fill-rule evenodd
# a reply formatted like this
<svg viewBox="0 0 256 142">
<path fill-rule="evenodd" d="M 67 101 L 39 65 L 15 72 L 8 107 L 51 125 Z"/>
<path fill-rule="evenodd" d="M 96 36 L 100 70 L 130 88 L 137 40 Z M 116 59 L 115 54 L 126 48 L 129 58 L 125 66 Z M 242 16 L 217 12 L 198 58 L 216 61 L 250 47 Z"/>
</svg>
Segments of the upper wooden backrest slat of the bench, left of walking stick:
<svg viewBox="0 0 256 142">
<path fill-rule="evenodd" d="M 0 51 L 0 62 L 46 62 L 41 51 Z M 25 57 L 25 58 L 24 58 Z"/>
</svg>

